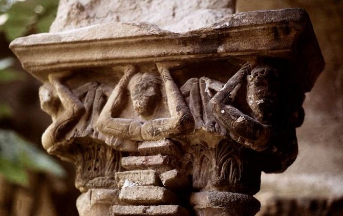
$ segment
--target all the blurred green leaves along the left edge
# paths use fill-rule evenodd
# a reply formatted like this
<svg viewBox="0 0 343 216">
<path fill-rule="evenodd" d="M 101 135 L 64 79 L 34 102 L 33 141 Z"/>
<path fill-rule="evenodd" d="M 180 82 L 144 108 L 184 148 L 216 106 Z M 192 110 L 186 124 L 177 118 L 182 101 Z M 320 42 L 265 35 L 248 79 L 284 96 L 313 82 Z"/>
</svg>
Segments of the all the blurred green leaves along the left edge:
<svg viewBox="0 0 343 216">
<path fill-rule="evenodd" d="M 48 32 L 56 16 L 58 0 L 0 0 L 0 32 L 8 41 L 33 33 Z M 15 59 L 0 59 L 0 84 L 24 77 L 12 68 Z M 11 107 L 0 102 L 0 120 L 13 114 Z M 27 170 L 65 176 L 65 170 L 34 144 L 15 132 L 0 129 L 0 174 L 9 182 L 27 186 Z"/>
</svg>

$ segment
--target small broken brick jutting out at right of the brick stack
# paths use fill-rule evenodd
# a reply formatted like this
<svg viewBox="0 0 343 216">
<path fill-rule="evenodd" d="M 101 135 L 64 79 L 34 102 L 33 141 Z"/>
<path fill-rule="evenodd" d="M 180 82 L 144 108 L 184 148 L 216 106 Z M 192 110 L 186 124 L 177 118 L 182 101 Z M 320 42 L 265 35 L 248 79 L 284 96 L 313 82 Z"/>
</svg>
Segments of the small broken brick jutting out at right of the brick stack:
<svg viewBox="0 0 343 216">
<path fill-rule="evenodd" d="M 166 188 L 180 189 L 189 186 L 188 177 L 176 169 L 163 172 L 160 179 Z"/>
</svg>

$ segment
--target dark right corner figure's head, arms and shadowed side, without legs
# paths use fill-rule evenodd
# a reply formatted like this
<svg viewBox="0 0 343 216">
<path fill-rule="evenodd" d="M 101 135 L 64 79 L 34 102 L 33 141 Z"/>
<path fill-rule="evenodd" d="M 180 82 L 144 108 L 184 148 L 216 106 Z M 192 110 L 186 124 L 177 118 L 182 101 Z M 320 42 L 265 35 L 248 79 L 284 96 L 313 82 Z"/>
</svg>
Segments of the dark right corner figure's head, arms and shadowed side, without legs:
<svg viewBox="0 0 343 216">
<path fill-rule="evenodd" d="M 245 64 L 210 100 L 227 137 L 257 151 L 252 155 L 265 172 L 281 172 L 293 163 L 297 155 L 295 127 L 304 120 L 303 93 L 282 93 L 281 82 L 274 68 L 261 65 L 252 69 Z M 245 94 L 238 94 L 240 91 Z M 243 101 L 239 95 L 245 95 Z M 297 102 L 286 107 L 288 97 Z"/>
</svg>

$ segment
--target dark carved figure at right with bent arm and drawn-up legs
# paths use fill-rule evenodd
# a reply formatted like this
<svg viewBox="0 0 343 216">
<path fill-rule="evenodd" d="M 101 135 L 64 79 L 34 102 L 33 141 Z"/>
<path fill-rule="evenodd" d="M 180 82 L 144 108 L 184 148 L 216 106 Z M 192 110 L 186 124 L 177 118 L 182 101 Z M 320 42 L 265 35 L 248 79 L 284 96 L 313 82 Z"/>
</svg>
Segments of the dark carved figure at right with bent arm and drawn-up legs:
<svg viewBox="0 0 343 216">
<path fill-rule="evenodd" d="M 256 71 L 259 70 L 254 70 L 255 74 Z M 191 78 L 181 87 L 181 92 L 195 118 L 196 128 L 204 126 L 208 132 L 216 132 L 255 150 L 263 150 L 270 136 L 270 125 L 266 117 L 274 112 L 270 109 L 267 111 L 270 105 L 265 104 L 275 107 L 277 99 L 272 98 L 276 94 L 269 92 L 268 81 L 263 81 L 265 86 L 257 87 L 252 80 L 256 76 L 250 73 L 250 64 L 245 64 L 225 85 L 208 77 Z M 242 92 L 241 89 L 246 86 L 247 90 Z M 236 94 L 247 97 L 249 114 L 243 114 L 233 106 Z M 242 99 L 238 103 L 242 103 Z"/>
</svg>

